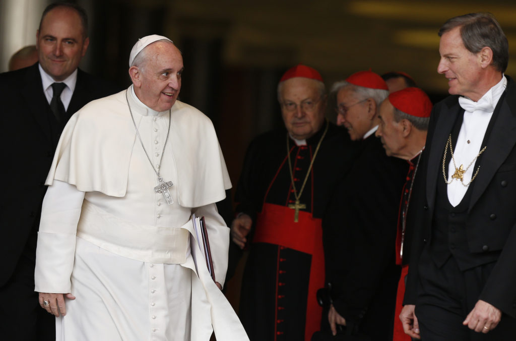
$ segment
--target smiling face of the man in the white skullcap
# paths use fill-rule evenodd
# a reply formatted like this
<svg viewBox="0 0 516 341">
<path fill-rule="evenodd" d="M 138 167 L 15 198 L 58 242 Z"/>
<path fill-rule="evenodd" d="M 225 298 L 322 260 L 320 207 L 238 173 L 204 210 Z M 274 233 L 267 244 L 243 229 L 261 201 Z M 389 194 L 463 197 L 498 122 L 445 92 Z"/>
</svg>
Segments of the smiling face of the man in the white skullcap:
<svg viewBox="0 0 516 341">
<path fill-rule="evenodd" d="M 157 41 L 144 50 L 146 60 L 133 79 L 136 96 L 155 111 L 168 111 L 181 90 L 183 57 L 171 42 Z"/>
</svg>

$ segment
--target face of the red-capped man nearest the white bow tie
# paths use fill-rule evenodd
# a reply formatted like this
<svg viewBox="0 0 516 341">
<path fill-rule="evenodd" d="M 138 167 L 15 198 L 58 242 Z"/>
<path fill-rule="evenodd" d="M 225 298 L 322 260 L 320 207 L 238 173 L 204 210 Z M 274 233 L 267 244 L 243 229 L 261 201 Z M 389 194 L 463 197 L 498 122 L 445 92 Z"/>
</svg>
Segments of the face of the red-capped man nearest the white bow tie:
<svg viewBox="0 0 516 341">
<path fill-rule="evenodd" d="M 402 135 L 403 127 L 400 122 L 394 120 L 394 106 L 385 99 L 380 105 L 378 114 L 380 124 L 376 136 L 380 137 L 385 153 L 388 156 L 399 156 L 401 149 L 405 146 L 405 139 Z"/>
</svg>

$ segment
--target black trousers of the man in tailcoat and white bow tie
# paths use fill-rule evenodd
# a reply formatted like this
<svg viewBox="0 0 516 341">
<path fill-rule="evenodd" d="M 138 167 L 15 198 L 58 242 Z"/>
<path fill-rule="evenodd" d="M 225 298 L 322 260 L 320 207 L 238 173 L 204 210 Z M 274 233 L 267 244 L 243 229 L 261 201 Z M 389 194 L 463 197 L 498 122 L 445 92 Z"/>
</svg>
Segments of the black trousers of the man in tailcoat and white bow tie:
<svg viewBox="0 0 516 341">
<path fill-rule="evenodd" d="M 453 256 L 442 268 L 433 262 L 428 248 L 418 265 L 420 282 L 415 314 L 424 341 L 516 340 L 516 319 L 503 314 L 498 326 L 487 334 L 462 325 L 475 307 L 495 262 L 460 271 Z M 515 288 L 516 290 L 516 288 Z"/>
</svg>

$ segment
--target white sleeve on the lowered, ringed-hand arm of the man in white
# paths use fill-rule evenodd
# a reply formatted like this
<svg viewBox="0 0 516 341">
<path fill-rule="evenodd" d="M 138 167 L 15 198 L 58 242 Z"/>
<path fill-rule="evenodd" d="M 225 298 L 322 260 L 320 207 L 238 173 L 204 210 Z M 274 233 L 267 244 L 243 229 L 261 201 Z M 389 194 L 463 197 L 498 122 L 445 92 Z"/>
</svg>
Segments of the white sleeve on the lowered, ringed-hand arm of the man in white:
<svg viewBox="0 0 516 341">
<path fill-rule="evenodd" d="M 36 249 L 35 291 L 68 293 L 84 192 L 54 180 L 46 191 Z"/>
</svg>

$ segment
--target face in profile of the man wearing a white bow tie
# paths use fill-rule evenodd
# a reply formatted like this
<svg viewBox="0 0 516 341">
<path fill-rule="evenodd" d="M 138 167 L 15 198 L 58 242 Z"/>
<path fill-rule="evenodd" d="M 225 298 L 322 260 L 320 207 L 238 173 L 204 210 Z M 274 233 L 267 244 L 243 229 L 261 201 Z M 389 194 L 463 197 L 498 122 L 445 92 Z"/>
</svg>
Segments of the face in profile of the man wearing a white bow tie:
<svg viewBox="0 0 516 341">
<path fill-rule="evenodd" d="M 441 60 L 437 72 L 448 79 L 450 95 L 462 95 L 478 101 L 483 94 L 478 92 L 481 79 L 481 57 L 464 47 L 460 36 L 460 27 L 451 29 L 442 35 L 439 43 Z"/>
</svg>

